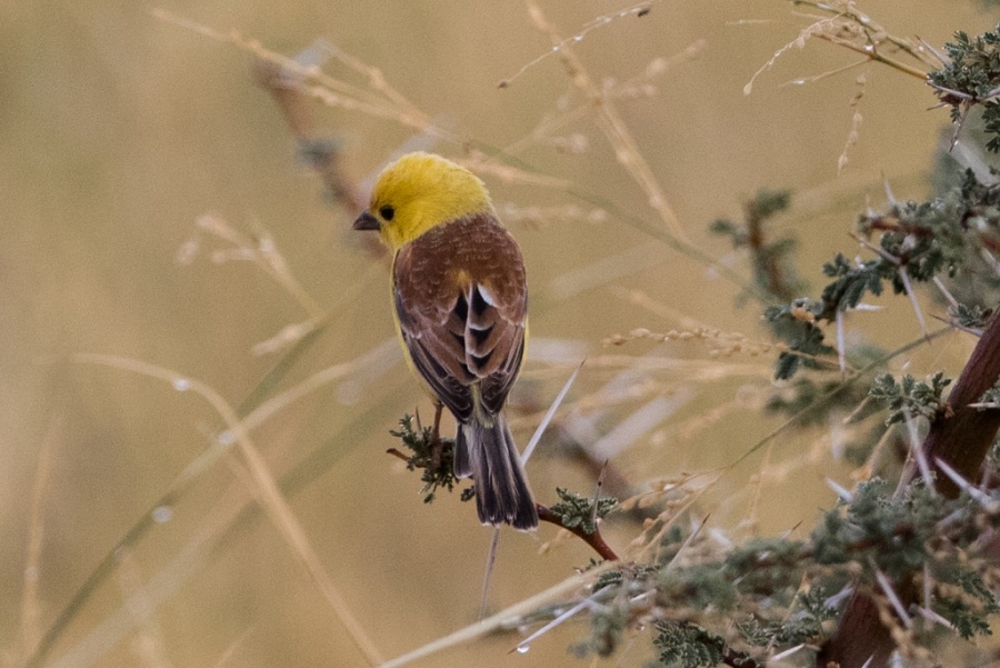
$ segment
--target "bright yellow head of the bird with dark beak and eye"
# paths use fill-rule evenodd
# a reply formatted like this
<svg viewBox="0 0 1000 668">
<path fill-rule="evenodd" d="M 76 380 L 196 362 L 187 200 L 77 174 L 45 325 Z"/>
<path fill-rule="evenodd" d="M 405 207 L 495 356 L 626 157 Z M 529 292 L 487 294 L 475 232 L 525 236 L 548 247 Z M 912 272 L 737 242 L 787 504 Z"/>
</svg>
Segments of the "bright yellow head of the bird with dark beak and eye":
<svg viewBox="0 0 1000 668">
<path fill-rule="evenodd" d="M 440 156 L 408 153 L 379 175 L 354 229 L 378 230 L 396 251 L 436 226 L 476 213 L 493 213 L 476 175 Z"/>
</svg>

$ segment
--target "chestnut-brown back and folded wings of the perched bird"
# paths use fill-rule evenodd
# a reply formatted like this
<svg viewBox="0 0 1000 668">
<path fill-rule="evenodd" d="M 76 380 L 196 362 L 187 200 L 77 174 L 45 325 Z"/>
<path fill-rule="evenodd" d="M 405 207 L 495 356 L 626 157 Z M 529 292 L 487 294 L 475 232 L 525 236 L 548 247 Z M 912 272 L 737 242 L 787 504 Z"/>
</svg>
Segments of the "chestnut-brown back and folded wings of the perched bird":
<svg viewBox="0 0 1000 668">
<path fill-rule="evenodd" d="M 460 420 L 499 412 L 524 351 L 528 293 L 517 242 L 488 216 L 426 232 L 396 257 L 396 312 L 413 367 Z"/>
</svg>

